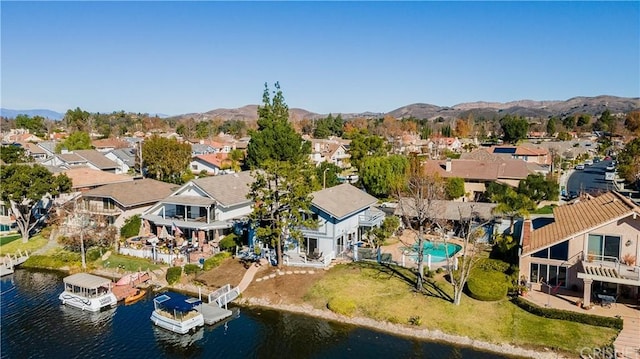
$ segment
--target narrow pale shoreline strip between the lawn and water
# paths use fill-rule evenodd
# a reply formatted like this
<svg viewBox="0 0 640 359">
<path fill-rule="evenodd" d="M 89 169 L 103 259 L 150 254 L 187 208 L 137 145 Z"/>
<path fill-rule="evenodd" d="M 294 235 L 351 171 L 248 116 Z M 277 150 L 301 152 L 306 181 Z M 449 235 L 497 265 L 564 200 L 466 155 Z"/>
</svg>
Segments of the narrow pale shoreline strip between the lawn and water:
<svg viewBox="0 0 640 359">
<path fill-rule="evenodd" d="M 364 317 L 347 317 L 340 314 L 336 314 L 330 310 L 322 310 L 313 308 L 311 305 L 295 305 L 295 304 L 273 304 L 268 300 L 260 298 L 243 298 L 237 302 L 240 306 L 249 307 L 262 307 L 266 309 L 278 310 L 283 312 L 296 313 L 301 315 L 308 315 L 315 318 L 325 319 L 329 321 L 335 321 L 344 324 L 350 324 L 358 327 L 365 327 L 367 329 L 382 331 L 384 333 L 399 335 L 409 338 L 442 342 L 447 344 L 454 344 L 457 346 L 469 347 L 477 350 L 482 350 L 492 353 L 502 353 L 517 357 L 535 358 L 535 359 L 552 359 L 552 358 L 565 358 L 565 356 L 553 352 L 551 350 L 547 352 L 539 352 L 531 349 L 525 349 L 511 344 L 494 344 L 481 340 L 471 339 L 469 337 L 463 337 L 453 334 L 447 334 L 440 330 L 430 329 L 417 329 L 409 328 L 400 324 L 393 324 L 389 322 L 380 322 L 370 318 Z"/>
</svg>

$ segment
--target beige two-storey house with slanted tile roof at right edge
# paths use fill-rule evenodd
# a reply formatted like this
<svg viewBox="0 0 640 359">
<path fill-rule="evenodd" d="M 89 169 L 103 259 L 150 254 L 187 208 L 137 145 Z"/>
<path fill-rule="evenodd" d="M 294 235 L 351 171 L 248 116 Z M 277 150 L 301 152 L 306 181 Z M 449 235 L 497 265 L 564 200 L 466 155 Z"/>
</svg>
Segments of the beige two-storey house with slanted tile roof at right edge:
<svg viewBox="0 0 640 359">
<path fill-rule="evenodd" d="M 553 221 L 546 225 L 524 221 L 521 281 L 543 290 L 582 291 L 584 306 L 605 298 L 637 300 L 639 216 L 640 207 L 617 192 L 607 192 L 556 207 Z"/>
</svg>

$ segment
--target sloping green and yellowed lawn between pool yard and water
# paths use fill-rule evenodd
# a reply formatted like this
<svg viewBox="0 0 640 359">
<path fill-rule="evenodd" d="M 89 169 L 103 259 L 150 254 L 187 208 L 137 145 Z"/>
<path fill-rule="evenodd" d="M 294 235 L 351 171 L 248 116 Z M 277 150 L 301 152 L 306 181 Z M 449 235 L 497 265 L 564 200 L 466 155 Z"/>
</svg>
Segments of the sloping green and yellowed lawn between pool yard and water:
<svg viewBox="0 0 640 359">
<path fill-rule="evenodd" d="M 442 278 L 425 285 L 425 294 L 411 290 L 415 276 L 405 268 L 376 264 L 338 265 L 306 294 L 317 308 L 333 298 L 355 305 L 355 316 L 393 323 L 419 323 L 420 328 L 527 348 L 558 348 L 577 353 L 582 347 L 610 344 L 617 331 L 530 314 L 508 300 L 481 302 L 465 296 L 451 303 L 453 291 Z M 415 319 L 419 318 L 418 321 Z"/>
</svg>

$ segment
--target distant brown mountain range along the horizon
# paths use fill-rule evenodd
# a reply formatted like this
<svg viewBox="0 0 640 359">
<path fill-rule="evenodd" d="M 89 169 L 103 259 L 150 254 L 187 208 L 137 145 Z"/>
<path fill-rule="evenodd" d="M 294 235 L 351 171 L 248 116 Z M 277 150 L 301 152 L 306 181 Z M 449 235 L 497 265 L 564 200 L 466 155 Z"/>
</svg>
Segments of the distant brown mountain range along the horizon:
<svg viewBox="0 0 640 359">
<path fill-rule="evenodd" d="M 501 102 L 467 102 L 452 107 L 437 106 L 427 103 L 414 103 L 403 106 L 386 113 L 377 112 L 361 112 L 361 113 L 340 113 L 334 112 L 333 116 L 340 114 L 343 119 L 353 118 L 380 118 L 390 115 L 398 119 L 415 117 L 419 119 L 444 119 L 450 118 L 473 118 L 491 119 L 494 117 L 502 117 L 506 114 L 524 116 L 529 118 L 549 118 L 565 117 L 573 114 L 589 114 L 597 116 L 604 110 L 609 109 L 612 114 L 628 113 L 634 110 L 640 110 L 640 98 L 638 97 L 616 97 L 616 96 L 596 96 L 596 97 L 573 97 L 566 101 L 534 101 L 520 100 L 506 103 Z M 327 117 L 329 114 L 319 114 L 307 111 L 301 108 L 289 109 L 292 120 L 318 119 Z M 29 116 L 42 116 L 52 120 L 60 120 L 64 114 L 51 110 L 9 110 L 0 109 L 2 117 L 15 118 L 18 114 L 26 114 Z M 162 118 L 193 118 L 196 121 L 222 119 L 222 120 L 241 120 L 250 121 L 258 118 L 258 105 L 247 105 L 240 108 L 219 108 L 203 113 L 187 113 L 177 116 L 158 115 Z"/>
</svg>

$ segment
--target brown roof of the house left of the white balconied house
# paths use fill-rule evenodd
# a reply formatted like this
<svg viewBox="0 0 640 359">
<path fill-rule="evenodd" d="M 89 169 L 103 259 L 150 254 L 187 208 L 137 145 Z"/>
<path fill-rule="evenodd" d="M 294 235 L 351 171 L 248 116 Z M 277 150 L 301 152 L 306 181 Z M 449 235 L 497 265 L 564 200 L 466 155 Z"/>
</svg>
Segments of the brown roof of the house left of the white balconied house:
<svg viewBox="0 0 640 359">
<path fill-rule="evenodd" d="M 134 207 L 158 202 L 173 193 L 176 187 L 175 184 L 145 178 L 124 183 L 107 184 L 84 192 L 82 196 L 112 198 L 123 207 Z"/>
</svg>

